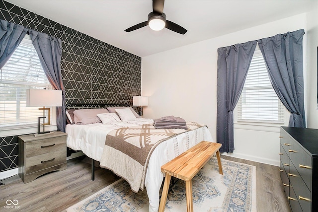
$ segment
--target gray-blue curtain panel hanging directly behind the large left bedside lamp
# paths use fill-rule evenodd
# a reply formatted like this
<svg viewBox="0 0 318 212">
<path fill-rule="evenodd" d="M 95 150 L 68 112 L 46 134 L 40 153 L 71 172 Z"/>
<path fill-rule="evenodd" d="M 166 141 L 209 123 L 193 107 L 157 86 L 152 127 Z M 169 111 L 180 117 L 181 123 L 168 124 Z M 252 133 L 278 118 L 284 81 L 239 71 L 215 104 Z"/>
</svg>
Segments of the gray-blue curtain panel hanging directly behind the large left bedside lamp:
<svg viewBox="0 0 318 212">
<path fill-rule="evenodd" d="M 29 30 L 29 34 L 49 82 L 54 89 L 62 90 L 62 107 L 56 107 L 56 124 L 59 131 L 65 132 L 65 90 L 61 74 L 62 42 L 45 33 Z"/>
</svg>

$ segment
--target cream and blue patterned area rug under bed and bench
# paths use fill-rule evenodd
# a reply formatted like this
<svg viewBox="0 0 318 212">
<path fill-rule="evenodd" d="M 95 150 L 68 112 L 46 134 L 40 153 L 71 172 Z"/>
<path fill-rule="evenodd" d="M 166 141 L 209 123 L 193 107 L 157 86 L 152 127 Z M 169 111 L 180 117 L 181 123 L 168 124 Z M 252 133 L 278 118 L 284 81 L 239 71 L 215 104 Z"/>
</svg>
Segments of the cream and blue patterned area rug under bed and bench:
<svg viewBox="0 0 318 212">
<path fill-rule="evenodd" d="M 195 212 L 255 212 L 255 166 L 222 160 L 223 175 L 218 161 L 211 158 L 192 179 Z M 161 191 L 160 191 L 161 192 Z M 148 212 L 146 189 L 132 192 L 120 179 L 78 204 L 67 212 Z M 169 188 L 165 212 L 186 211 L 185 183 L 182 180 Z"/>
</svg>

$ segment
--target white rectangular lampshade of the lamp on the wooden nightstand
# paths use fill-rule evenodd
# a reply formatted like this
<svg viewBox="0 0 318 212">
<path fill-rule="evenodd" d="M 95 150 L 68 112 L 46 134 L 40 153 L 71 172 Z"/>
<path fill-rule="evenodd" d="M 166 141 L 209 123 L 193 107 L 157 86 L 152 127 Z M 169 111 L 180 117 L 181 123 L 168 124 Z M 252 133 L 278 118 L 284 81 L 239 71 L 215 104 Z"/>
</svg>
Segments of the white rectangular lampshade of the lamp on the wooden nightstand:
<svg viewBox="0 0 318 212">
<path fill-rule="evenodd" d="M 26 106 L 62 106 L 62 90 L 27 89 Z"/>
</svg>

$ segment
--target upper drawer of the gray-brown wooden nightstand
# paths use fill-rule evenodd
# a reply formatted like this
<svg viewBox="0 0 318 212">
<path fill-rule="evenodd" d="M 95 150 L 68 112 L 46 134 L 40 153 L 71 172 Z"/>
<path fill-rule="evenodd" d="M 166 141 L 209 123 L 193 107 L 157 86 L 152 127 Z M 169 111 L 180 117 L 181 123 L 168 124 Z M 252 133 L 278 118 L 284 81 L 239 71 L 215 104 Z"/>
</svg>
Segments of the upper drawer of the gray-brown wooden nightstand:
<svg viewBox="0 0 318 212">
<path fill-rule="evenodd" d="M 66 149 L 66 136 L 25 142 L 25 156 L 33 157 Z"/>
</svg>

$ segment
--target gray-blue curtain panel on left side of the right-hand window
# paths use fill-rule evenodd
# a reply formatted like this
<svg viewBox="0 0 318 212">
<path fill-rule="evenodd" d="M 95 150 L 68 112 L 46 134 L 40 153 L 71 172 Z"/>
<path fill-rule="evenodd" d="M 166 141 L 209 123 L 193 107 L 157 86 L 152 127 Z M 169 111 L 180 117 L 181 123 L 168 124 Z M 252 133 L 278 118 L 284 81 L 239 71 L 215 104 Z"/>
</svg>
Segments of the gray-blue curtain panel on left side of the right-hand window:
<svg viewBox="0 0 318 212">
<path fill-rule="evenodd" d="M 218 49 L 217 142 L 221 152 L 233 152 L 233 110 L 239 101 L 257 41 Z"/>
</svg>

